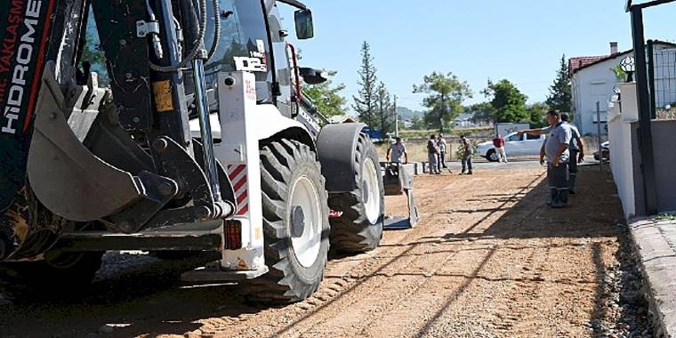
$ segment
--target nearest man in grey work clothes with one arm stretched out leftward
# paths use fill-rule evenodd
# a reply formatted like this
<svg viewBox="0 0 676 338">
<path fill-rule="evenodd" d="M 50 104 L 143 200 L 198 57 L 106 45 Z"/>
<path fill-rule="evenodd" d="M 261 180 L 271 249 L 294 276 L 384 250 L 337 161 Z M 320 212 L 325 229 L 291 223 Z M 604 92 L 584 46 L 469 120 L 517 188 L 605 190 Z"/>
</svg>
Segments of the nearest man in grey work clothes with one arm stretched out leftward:
<svg viewBox="0 0 676 338">
<path fill-rule="evenodd" d="M 519 135 L 540 135 L 550 133 L 550 137 L 543 142 L 540 149 L 540 164 L 544 165 L 544 157 L 547 157 L 547 181 L 549 181 L 551 201 L 548 205 L 552 208 L 563 208 L 568 205 L 568 160 L 570 152 L 568 145 L 572 139 L 570 126 L 561 121 L 559 110 L 547 112 L 549 127 L 542 129 L 527 129 L 519 131 Z"/>
</svg>

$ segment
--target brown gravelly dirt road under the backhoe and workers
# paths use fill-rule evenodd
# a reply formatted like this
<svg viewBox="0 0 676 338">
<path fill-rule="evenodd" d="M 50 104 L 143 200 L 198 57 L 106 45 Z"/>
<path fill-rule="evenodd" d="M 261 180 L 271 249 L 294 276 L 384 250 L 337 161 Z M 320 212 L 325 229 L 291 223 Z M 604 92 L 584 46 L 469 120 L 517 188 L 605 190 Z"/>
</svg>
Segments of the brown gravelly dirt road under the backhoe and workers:
<svg viewBox="0 0 676 338">
<path fill-rule="evenodd" d="M 416 178 L 418 227 L 387 231 L 372 253 L 335 257 L 306 302 L 270 308 L 246 303 L 237 286 L 177 286 L 176 268 L 149 262 L 101 280 L 82 301 L 10 291 L 3 301 L 0 291 L 0 335 L 608 334 L 622 310 L 608 289 L 622 237 L 610 176 L 585 168 L 567 210 L 545 207 L 543 178 L 536 165 Z M 387 203 L 389 213 L 405 210 L 403 197 Z"/>
</svg>

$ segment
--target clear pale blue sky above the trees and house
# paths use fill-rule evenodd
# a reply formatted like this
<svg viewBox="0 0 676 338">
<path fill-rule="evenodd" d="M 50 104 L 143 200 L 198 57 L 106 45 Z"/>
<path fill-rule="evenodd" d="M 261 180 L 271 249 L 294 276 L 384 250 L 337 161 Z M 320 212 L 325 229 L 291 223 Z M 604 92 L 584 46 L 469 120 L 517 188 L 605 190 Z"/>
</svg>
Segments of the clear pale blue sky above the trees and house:
<svg viewBox="0 0 676 338">
<path fill-rule="evenodd" d="M 632 48 L 624 0 L 304 0 L 313 12 L 315 38 L 295 41 L 304 66 L 337 70 L 336 83 L 351 103 L 357 92 L 359 48 L 371 44 L 378 76 L 399 105 L 422 109 L 412 84 L 432 71 L 466 80 L 474 97 L 487 79 L 507 78 L 544 101 L 561 54 L 608 54 L 611 41 Z M 286 28 L 294 32 L 286 5 Z M 287 8 L 284 8 L 287 7 Z M 676 41 L 676 3 L 646 10 L 646 37 Z M 294 35 L 294 33 L 292 33 Z M 350 105 L 348 105 L 350 106 Z"/>
</svg>

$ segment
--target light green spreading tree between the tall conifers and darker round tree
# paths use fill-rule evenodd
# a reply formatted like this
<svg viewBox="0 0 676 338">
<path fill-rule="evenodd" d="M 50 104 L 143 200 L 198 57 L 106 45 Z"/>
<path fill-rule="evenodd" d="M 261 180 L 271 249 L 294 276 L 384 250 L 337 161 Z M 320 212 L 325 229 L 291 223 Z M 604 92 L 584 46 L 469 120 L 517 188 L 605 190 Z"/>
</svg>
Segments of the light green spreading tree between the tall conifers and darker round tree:
<svg viewBox="0 0 676 338">
<path fill-rule="evenodd" d="M 461 81 L 453 73 L 432 72 L 422 77 L 422 84 L 413 86 L 413 93 L 427 93 L 428 96 L 422 101 L 427 107 L 424 119 L 427 125 L 439 132 L 444 132 L 444 127 L 452 125 L 463 111 L 463 101 L 471 98 L 470 85 Z"/>
</svg>

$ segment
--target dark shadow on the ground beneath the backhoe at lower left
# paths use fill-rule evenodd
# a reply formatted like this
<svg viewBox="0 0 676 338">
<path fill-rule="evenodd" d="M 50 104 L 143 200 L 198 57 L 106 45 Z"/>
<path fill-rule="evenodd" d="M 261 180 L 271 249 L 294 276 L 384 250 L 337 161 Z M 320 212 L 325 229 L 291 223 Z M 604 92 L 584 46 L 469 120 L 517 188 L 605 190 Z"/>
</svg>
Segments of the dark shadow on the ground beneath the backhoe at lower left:
<svg viewBox="0 0 676 338">
<path fill-rule="evenodd" d="M 82 337 L 96 334 L 104 325 L 115 326 L 107 337 L 182 335 L 200 328 L 199 319 L 237 317 L 270 309 L 245 302 L 237 293 L 237 285 L 186 286 L 179 282 L 182 272 L 203 266 L 211 258 L 157 260 L 68 294 L 58 289 L 36 293 L 14 286 L 16 280 L 4 270 L 0 336 Z"/>
</svg>

